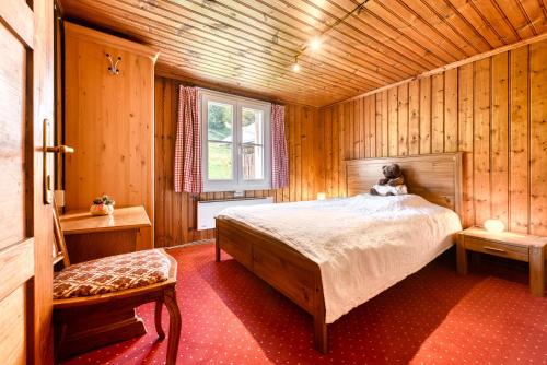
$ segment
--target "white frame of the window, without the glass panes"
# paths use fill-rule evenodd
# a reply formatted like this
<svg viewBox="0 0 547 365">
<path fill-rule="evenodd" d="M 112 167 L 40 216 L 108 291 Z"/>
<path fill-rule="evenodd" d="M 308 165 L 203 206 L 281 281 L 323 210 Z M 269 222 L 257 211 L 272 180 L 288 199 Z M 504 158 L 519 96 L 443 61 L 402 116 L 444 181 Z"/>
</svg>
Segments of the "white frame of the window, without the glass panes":
<svg viewBox="0 0 547 365">
<path fill-rule="evenodd" d="M 271 132 L 270 132 L 270 110 L 271 104 L 235 96 L 231 94 L 214 92 L 206 89 L 198 89 L 199 98 L 199 120 L 201 128 L 201 176 L 203 178 L 203 191 L 245 191 L 245 190 L 269 190 L 271 189 Z M 207 126 L 207 105 L 209 102 L 231 104 L 233 106 L 233 136 L 232 136 L 232 180 L 210 180 L 209 179 L 209 139 Z M 261 110 L 264 122 L 264 179 L 244 180 L 243 162 L 241 155 L 242 146 L 242 109 L 244 107 Z"/>
</svg>

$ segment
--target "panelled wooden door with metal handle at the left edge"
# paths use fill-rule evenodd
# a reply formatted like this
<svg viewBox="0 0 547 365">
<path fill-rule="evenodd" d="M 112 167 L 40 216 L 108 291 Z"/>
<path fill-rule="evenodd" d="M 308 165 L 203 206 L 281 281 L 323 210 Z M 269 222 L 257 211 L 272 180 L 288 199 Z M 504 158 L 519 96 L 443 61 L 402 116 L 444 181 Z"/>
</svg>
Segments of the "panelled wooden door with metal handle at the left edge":
<svg viewBox="0 0 547 365">
<path fill-rule="evenodd" d="M 42 192 L 51 14 L 48 0 L 0 0 L 0 364 L 53 362 L 53 226 Z"/>
</svg>

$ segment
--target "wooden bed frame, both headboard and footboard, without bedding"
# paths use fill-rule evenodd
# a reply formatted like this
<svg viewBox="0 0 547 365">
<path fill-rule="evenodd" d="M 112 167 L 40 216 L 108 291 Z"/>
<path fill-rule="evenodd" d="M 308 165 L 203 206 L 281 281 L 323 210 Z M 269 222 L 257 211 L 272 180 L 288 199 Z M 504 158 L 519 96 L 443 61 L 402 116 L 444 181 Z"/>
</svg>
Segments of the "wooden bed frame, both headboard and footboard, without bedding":
<svg viewBox="0 0 547 365">
<path fill-rule="evenodd" d="M 410 193 L 461 215 L 461 152 L 347 161 L 348 196 L 368 192 L 382 177 L 382 166 L 391 163 L 403 168 Z M 327 353 L 325 299 L 317 263 L 277 238 L 237 222 L 217 219 L 217 261 L 221 249 L 310 313 L 314 319 L 315 349 Z"/>
</svg>

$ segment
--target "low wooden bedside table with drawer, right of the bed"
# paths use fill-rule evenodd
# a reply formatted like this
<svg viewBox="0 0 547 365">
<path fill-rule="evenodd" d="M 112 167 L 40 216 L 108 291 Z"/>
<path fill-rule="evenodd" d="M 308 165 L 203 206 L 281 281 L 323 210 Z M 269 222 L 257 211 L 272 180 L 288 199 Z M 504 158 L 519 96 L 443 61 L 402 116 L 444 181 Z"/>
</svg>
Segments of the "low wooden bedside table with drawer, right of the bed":
<svg viewBox="0 0 547 365">
<path fill-rule="evenodd" d="M 457 272 L 467 273 L 467 250 L 529 262 L 529 290 L 544 296 L 547 237 L 470 227 L 457 234 Z"/>
</svg>

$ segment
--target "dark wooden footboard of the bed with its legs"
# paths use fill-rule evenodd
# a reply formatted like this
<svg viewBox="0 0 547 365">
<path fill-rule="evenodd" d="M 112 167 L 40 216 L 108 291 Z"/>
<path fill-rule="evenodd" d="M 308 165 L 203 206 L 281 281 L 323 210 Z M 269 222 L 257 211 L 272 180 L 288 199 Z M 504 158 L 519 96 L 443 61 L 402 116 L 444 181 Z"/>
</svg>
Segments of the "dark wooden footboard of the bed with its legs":
<svg viewBox="0 0 547 365">
<path fill-rule="evenodd" d="M 224 250 L 313 316 L 314 346 L 327 353 L 327 325 L 317 263 L 269 235 L 217 219 L 216 261 Z"/>
</svg>

